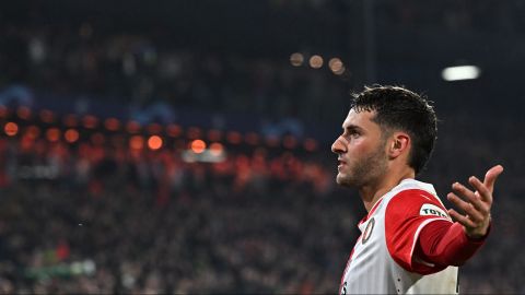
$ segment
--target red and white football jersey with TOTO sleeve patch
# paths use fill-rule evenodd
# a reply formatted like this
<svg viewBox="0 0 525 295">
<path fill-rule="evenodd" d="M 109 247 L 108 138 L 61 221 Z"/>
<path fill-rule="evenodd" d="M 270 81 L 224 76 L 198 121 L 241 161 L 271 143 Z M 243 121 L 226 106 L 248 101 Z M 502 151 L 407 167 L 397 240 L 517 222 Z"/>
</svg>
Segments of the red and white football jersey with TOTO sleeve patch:
<svg viewBox="0 0 525 295">
<path fill-rule="evenodd" d="M 432 185 L 402 180 L 359 223 L 340 294 L 457 294 L 457 267 L 413 256 L 423 226 L 443 220 L 452 223 Z"/>
</svg>

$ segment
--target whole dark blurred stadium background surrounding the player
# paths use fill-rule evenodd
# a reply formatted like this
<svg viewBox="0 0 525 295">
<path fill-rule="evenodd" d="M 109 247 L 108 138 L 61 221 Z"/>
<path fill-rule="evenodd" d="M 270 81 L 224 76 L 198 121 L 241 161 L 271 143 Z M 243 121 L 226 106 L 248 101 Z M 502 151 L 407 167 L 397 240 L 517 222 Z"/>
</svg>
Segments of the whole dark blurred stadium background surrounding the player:
<svg viewBox="0 0 525 295">
<path fill-rule="evenodd" d="M 420 178 L 442 199 L 505 167 L 462 291 L 524 292 L 523 1 L 9 1 L 0 36 L 4 292 L 337 292 L 364 211 L 334 185 L 329 146 L 350 93 L 374 83 L 434 102 L 439 139 Z M 306 61 L 293 67 L 293 52 Z M 441 78 L 462 64 L 480 76 Z M 161 151 L 130 148 L 129 121 L 161 135 Z M 52 128 L 80 139 L 50 140 Z M 184 162 L 197 138 L 228 160 Z"/>
</svg>

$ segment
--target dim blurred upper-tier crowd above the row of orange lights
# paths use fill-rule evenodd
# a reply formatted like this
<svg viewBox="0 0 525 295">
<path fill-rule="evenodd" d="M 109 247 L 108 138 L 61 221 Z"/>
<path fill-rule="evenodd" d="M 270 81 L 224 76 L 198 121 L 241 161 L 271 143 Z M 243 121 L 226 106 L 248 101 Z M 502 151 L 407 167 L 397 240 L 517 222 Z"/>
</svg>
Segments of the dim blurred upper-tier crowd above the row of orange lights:
<svg viewBox="0 0 525 295">
<path fill-rule="evenodd" d="M 292 52 L 272 60 L 166 48 L 170 35 L 108 34 L 91 23 L 0 31 L 5 36 L 0 86 L 21 83 L 73 99 L 126 103 L 130 110 L 162 103 L 172 109 L 247 113 L 269 120 L 320 121 L 348 105 L 336 99 L 346 95 L 341 81 L 329 79 L 326 69 L 292 67 Z M 327 99 L 332 103 L 323 103 Z"/>
</svg>

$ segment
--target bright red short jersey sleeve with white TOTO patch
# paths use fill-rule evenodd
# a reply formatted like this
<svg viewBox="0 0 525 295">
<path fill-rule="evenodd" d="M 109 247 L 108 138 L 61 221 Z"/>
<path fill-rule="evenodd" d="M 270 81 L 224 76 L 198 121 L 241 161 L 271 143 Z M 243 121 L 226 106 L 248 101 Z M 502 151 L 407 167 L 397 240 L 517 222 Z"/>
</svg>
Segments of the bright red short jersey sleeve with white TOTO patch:
<svg viewBox="0 0 525 295">
<path fill-rule="evenodd" d="M 452 225 L 443 204 L 425 190 L 404 190 L 388 202 L 385 212 L 386 245 L 392 258 L 407 271 L 430 274 L 446 268 L 415 255 L 421 229 L 435 221 Z"/>
</svg>

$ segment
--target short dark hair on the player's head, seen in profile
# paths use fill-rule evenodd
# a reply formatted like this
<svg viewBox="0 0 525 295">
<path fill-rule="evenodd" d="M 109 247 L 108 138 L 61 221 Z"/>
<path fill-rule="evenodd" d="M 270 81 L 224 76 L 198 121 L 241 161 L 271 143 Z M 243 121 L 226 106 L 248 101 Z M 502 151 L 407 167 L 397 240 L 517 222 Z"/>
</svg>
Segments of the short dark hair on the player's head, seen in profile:
<svg viewBox="0 0 525 295">
<path fill-rule="evenodd" d="M 355 111 L 375 111 L 374 121 L 383 132 L 405 131 L 410 135 L 412 149 L 408 165 L 416 174 L 429 161 L 438 138 L 438 118 L 430 101 L 402 86 L 374 85 L 353 94 L 352 108 Z"/>
</svg>

